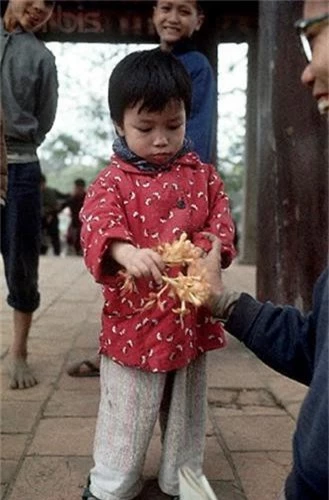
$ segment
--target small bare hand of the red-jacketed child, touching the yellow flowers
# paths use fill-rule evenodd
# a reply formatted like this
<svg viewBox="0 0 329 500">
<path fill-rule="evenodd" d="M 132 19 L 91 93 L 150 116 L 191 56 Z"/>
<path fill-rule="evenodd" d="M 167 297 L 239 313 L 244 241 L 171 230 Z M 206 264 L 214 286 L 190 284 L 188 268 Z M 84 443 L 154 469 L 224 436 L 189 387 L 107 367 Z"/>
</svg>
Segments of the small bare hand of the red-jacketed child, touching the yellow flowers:
<svg viewBox="0 0 329 500">
<path fill-rule="evenodd" d="M 161 285 L 161 271 L 165 264 L 160 255 L 150 248 L 136 248 L 130 243 L 115 242 L 111 246 L 112 258 L 126 268 L 135 278 L 152 276 Z"/>
</svg>

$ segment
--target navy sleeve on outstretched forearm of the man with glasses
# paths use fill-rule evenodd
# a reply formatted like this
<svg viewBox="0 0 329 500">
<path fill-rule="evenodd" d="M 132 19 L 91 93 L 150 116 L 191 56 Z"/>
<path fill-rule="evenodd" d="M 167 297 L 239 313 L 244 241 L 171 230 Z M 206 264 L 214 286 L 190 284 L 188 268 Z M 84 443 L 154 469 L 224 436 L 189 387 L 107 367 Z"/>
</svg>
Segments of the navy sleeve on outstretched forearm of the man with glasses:
<svg viewBox="0 0 329 500">
<path fill-rule="evenodd" d="M 225 329 L 274 370 L 309 385 L 314 370 L 313 314 L 295 307 L 262 304 L 242 293 Z"/>
</svg>

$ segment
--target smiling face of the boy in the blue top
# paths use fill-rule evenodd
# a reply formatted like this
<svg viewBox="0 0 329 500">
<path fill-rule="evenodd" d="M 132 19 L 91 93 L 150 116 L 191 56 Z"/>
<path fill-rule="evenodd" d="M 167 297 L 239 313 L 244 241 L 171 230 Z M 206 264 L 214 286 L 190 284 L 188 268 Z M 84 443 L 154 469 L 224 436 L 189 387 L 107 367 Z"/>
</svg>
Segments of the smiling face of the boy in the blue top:
<svg viewBox="0 0 329 500">
<path fill-rule="evenodd" d="M 153 10 L 153 23 L 163 50 L 170 50 L 182 38 L 190 38 L 201 28 L 203 20 L 195 0 L 158 0 Z"/>
</svg>

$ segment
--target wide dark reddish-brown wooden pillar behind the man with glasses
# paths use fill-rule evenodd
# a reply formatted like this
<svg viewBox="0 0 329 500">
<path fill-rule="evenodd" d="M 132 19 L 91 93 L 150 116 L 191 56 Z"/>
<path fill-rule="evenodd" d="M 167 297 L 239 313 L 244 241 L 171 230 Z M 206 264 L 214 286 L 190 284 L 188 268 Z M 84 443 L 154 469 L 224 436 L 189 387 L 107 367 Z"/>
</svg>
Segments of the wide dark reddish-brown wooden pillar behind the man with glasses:
<svg viewBox="0 0 329 500">
<path fill-rule="evenodd" d="M 257 295 L 307 310 L 328 256 L 328 124 L 302 86 L 301 2 L 262 1 Z"/>
</svg>

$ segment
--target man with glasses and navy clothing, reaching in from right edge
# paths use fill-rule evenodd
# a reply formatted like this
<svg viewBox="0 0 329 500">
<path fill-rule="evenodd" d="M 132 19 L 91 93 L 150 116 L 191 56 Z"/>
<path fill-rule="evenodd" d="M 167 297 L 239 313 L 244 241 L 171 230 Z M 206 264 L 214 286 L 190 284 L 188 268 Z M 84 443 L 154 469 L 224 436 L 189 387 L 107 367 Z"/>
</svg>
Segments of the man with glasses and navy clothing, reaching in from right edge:
<svg viewBox="0 0 329 500">
<path fill-rule="evenodd" d="M 296 23 L 306 57 L 303 84 L 312 89 L 321 114 L 329 117 L 329 3 L 306 0 Z M 225 289 L 220 243 L 204 259 L 212 294 L 208 307 L 225 329 L 264 363 L 309 386 L 293 439 L 293 464 L 279 500 L 328 500 L 328 269 L 314 287 L 313 307 L 302 314 L 293 306 L 261 303 L 246 293 Z"/>
</svg>

